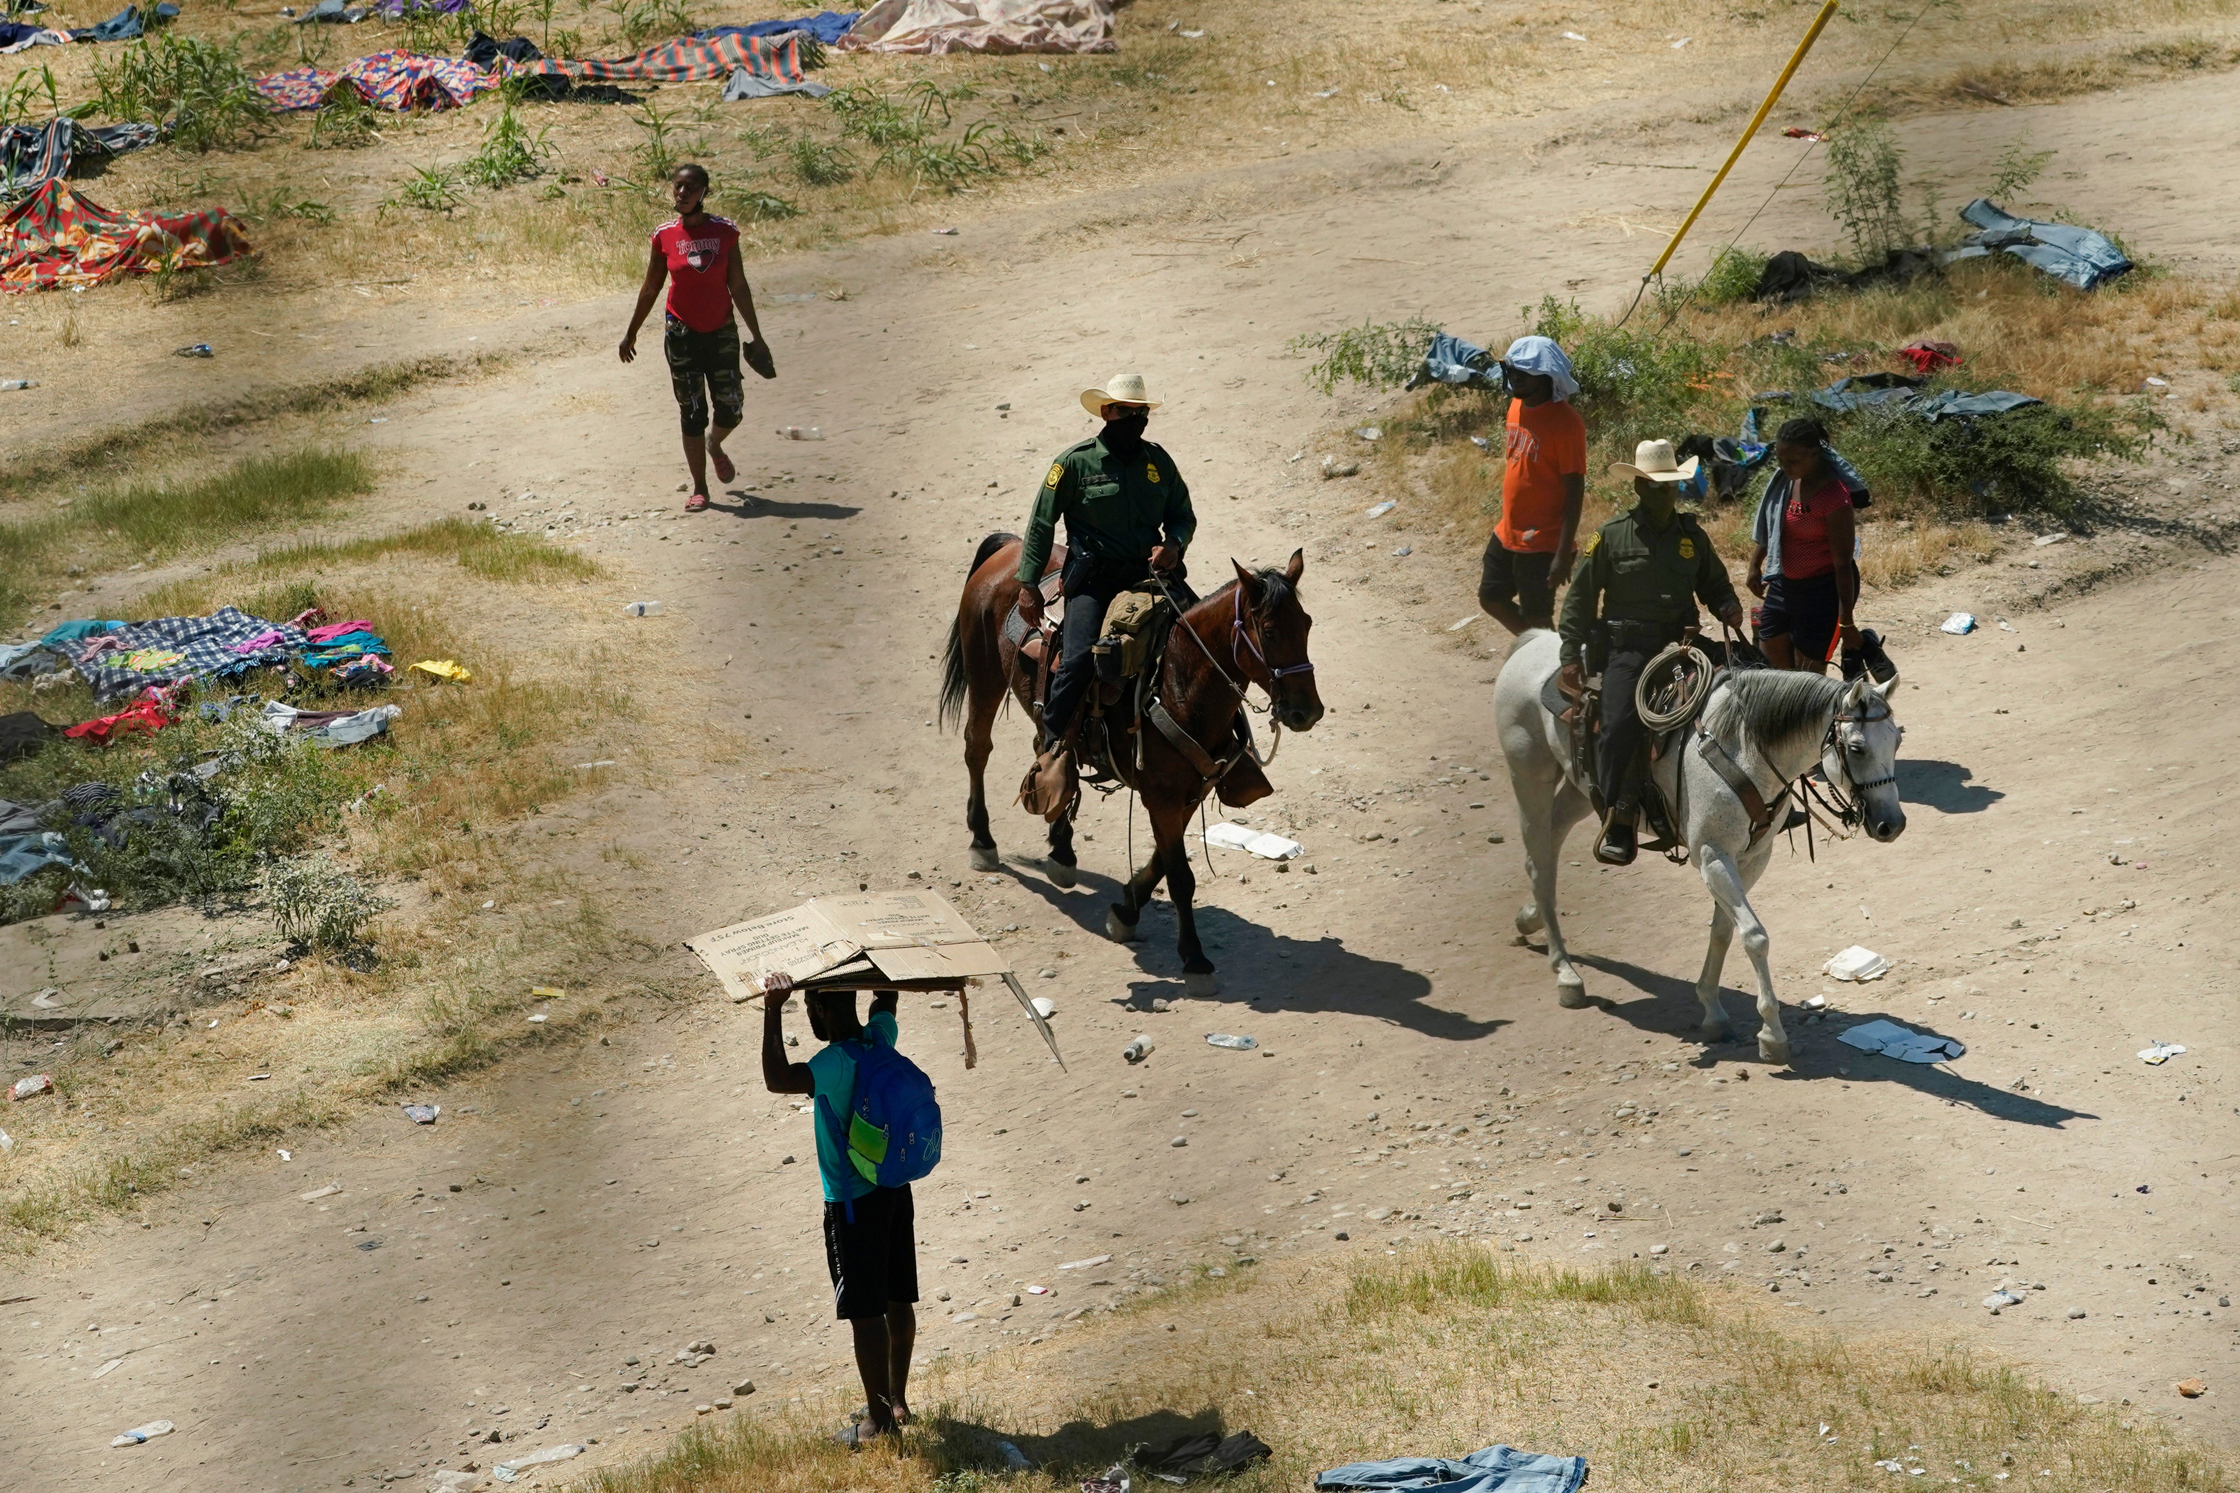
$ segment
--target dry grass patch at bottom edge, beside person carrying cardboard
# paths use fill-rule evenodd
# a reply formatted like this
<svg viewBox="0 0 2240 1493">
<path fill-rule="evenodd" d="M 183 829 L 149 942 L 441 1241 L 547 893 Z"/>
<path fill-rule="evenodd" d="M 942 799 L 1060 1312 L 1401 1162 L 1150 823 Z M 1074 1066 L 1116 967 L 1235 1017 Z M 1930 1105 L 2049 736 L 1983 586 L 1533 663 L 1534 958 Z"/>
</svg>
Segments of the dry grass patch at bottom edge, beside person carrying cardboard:
<svg viewBox="0 0 2240 1493">
<path fill-rule="evenodd" d="M 1852 1343 L 1637 1265 L 1512 1262 L 1469 1245 L 1245 1267 L 941 1372 L 903 1446 L 829 1442 L 842 1392 L 685 1433 L 587 1493 L 1073 1489 L 1145 1442 L 1252 1430 L 1241 1493 L 1328 1466 L 1490 1442 L 1584 1455 L 1597 1489 L 2231 1489 L 2150 1417 L 2085 1408 L 1949 1343 Z M 1781 1321 L 1776 1321 L 1781 1318 Z M 1174 1325 L 1174 1332 L 1163 1330 Z M 1794 1323 L 1794 1325 L 1792 1325 Z M 1653 1381 L 1653 1383 L 1651 1383 Z M 1823 1430 L 1826 1428 L 1826 1430 Z M 997 1442 L 1033 1473 L 1004 1475 Z M 1879 1464 L 1879 1466 L 1877 1466 Z"/>
</svg>

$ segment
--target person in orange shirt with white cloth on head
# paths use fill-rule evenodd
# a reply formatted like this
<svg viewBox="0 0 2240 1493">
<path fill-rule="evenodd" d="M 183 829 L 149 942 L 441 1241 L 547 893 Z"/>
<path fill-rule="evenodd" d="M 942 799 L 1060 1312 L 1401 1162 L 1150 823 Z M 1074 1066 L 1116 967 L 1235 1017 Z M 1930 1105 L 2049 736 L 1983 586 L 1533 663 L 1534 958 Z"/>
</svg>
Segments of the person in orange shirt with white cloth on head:
<svg viewBox="0 0 2240 1493">
<path fill-rule="evenodd" d="M 1501 519 L 1485 542 L 1478 607 L 1512 633 L 1555 627 L 1555 589 L 1579 557 L 1586 501 L 1586 421 L 1570 358 L 1552 338 L 1516 338 L 1501 358 L 1510 385 Z"/>
</svg>

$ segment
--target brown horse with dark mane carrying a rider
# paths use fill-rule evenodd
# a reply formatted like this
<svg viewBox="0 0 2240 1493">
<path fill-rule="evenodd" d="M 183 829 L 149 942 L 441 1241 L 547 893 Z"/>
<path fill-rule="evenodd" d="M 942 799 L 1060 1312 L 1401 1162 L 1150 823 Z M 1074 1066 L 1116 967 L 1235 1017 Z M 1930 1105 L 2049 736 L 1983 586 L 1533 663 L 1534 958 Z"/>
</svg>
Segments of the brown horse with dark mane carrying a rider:
<svg viewBox="0 0 2240 1493">
<path fill-rule="evenodd" d="M 1281 571 L 1230 564 L 1236 569 L 1236 580 L 1176 618 L 1158 672 L 1158 701 L 1192 745 L 1178 745 L 1145 721 L 1140 761 L 1127 745 L 1111 752 L 1118 759 L 1113 768 L 1142 795 L 1145 813 L 1151 817 L 1154 851 L 1127 882 L 1127 900 L 1111 904 L 1104 936 L 1113 942 L 1133 940 L 1136 922 L 1165 877 L 1167 895 L 1174 898 L 1185 985 L 1198 996 L 1214 994 L 1219 985 L 1214 965 L 1198 942 L 1189 904 L 1198 880 L 1189 868 L 1183 830 L 1192 810 L 1216 783 L 1223 801 L 1232 806 L 1272 792 L 1239 732 L 1245 685 L 1268 692 L 1275 721 L 1288 730 L 1313 730 L 1322 719 L 1315 665 L 1306 658 L 1306 633 L 1315 620 L 1299 607 L 1306 555 L 1295 551 Z M 1010 694 L 1033 716 L 1035 665 L 1021 667 L 1019 645 L 1004 629 L 1017 602 L 1019 539 L 1004 533 L 988 535 L 972 557 L 972 575 L 965 580 L 956 622 L 950 627 L 941 678 L 941 719 L 961 714 L 965 723 L 965 770 L 972 774 L 965 826 L 972 830 L 974 871 L 995 871 L 1004 864 L 995 851 L 995 835 L 988 833 L 986 768 L 995 750 L 995 714 Z M 1055 647 L 1046 667 L 1057 667 Z M 1068 808 L 1051 824 L 1051 882 L 1073 886 L 1073 866 Z"/>
</svg>

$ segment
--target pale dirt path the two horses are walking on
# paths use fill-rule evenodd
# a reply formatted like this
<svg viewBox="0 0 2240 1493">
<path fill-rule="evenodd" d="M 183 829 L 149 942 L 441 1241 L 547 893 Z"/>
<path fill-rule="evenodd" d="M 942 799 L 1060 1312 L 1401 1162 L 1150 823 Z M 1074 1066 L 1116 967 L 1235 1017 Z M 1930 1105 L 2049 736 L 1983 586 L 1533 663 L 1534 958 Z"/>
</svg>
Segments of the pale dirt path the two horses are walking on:
<svg viewBox="0 0 2240 1493">
<path fill-rule="evenodd" d="M 2166 85 L 2153 110 L 2215 87 Z M 2094 137 L 2137 107 L 2132 94 L 2061 119 Z M 1716 141 L 1662 150 L 1693 159 Z M 2150 181 L 2150 152 L 2175 175 L 2182 150 L 2139 141 L 2141 175 L 2097 177 L 2076 199 L 2101 193 L 2088 206 L 2130 222 L 2139 199 L 2117 193 Z M 1754 159 L 1734 201 L 1785 166 Z M 488 483 L 421 475 L 457 472 L 466 448 L 506 454 L 508 488 L 538 497 L 502 510 L 589 530 L 616 602 L 668 602 L 616 620 L 638 629 L 645 667 L 721 669 L 732 683 L 710 719 L 750 719 L 766 743 L 762 763 L 676 763 L 670 792 L 598 810 L 625 815 L 616 839 L 652 866 L 616 884 L 618 915 L 674 940 L 918 873 L 1001 929 L 1057 1001 L 1064 1074 L 995 998 L 977 1010 L 972 1074 L 954 1010 L 903 1012 L 950 1124 L 948 1162 L 921 1189 L 927 1359 L 1060 1334 L 1066 1314 L 1189 1260 L 1449 1229 L 1727 1274 L 1848 1330 L 1949 1332 L 2231 1442 L 2215 1397 L 2180 1401 L 2168 1383 L 2222 1386 L 2236 1368 L 2220 1303 L 2240 1099 L 2213 1039 L 2231 1016 L 2218 806 L 2233 788 L 2233 562 L 2016 607 L 2018 631 L 1971 638 L 1929 625 L 1951 607 L 1989 622 L 2043 578 L 1962 575 L 1868 609 L 1906 672 L 1911 830 L 1893 848 L 1823 846 L 1817 864 L 1783 853 L 1758 904 L 1788 998 L 1821 992 L 1819 963 L 1866 942 L 1897 969 L 1826 987 L 1841 1016 L 1960 1036 L 1969 1054 L 1951 1068 L 1859 1057 L 1835 1043 L 1841 1021 L 1792 1027 L 1790 1074 L 1752 1045 L 1700 1050 L 1689 980 L 1705 895 L 1687 871 L 1568 868 L 1572 947 L 1604 1010 L 1557 1010 L 1543 958 L 1512 945 L 1519 853 L 1487 839 L 1512 828 L 1492 667 L 1427 642 L 1469 611 L 1467 546 L 1393 557 L 1344 483 L 1286 461 L 1331 410 L 1279 349 L 1420 304 L 1494 327 L 1566 280 L 1622 282 L 1644 244 L 1606 215 L 1684 195 L 1658 181 L 1622 201 L 1628 184 L 1570 152 L 1422 143 L 777 266 L 766 295 L 844 284 L 849 300 L 771 304 L 786 378 L 755 389 L 739 441 L 759 497 L 692 522 L 672 513 L 668 389 L 645 367 L 618 376 L 605 338 L 414 396 L 367 441 L 408 472 L 383 499 L 399 522 Z M 1189 204 L 1214 186 L 1266 204 L 1230 210 L 1223 237 L 1252 231 L 1239 248 L 1189 242 Z M 1794 219 L 1761 226 L 1763 242 L 1819 240 L 1803 204 L 1776 210 Z M 1116 217 L 1133 226 L 1064 231 Z M 1570 222 L 1584 226 L 1557 226 Z M 2224 253 L 2206 231 L 2182 237 L 2188 222 L 2171 219 L 2157 248 Z M 580 311 L 569 320 L 620 316 Z M 930 725 L 932 654 L 974 542 L 1017 526 L 1042 459 L 1084 434 L 1075 389 L 1131 365 L 1172 401 L 1154 434 L 1192 481 L 1201 575 L 1306 544 L 1331 705 L 1286 741 L 1281 792 L 1252 815 L 1304 839 L 1313 873 L 1219 855 L 1201 882 L 1225 980 L 1214 1001 L 1183 998 L 1163 909 L 1136 949 L 1098 936 L 1127 871 L 1122 801 L 1086 810 L 1077 891 L 1042 877 L 1039 826 L 1017 813 L 997 817 L 1006 871 L 968 875 L 959 745 Z M 777 423 L 829 441 L 773 443 Z M 1409 575 L 1425 600 L 1407 600 Z M 997 781 L 1024 727 L 1001 741 Z M 435 1130 L 372 1115 L 11 1265 L 0 1296 L 31 1300 L 4 1307 L 20 1410 L 0 1459 L 27 1486 L 329 1489 L 468 1455 L 488 1466 L 502 1450 L 470 1439 L 493 1428 L 517 1437 L 513 1453 L 596 1437 L 596 1459 L 638 1455 L 741 1377 L 757 1383 L 748 1403 L 833 1388 L 838 1415 L 853 1390 L 809 1126 L 762 1092 L 759 1018 L 706 989 L 643 1012 L 614 1045 L 432 1095 Z M 1154 998 L 1174 1010 L 1154 1014 Z M 1207 1048 L 1214 1030 L 1263 1052 Z M 1127 1068 L 1136 1032 L 1158 1052 Z M 2146 1068 L 2132 1052 L 2150 1039 L 2191 1052 Z M 327 1186 L 340 1191 L 300 1200 Z M 1111 1258 L 1062 1269 L 1098 1256 Z M 1991 1316 L 1978 1300 L 2003 1283 L 2045 1289 Z M 1010 1307 L 1026 1285 L 1055 1292 Z M 694 1339 L 717 1356 L 674 1363 Z M 157 1417 L 179 1433 L 108 1448 Z"/>
</svg>

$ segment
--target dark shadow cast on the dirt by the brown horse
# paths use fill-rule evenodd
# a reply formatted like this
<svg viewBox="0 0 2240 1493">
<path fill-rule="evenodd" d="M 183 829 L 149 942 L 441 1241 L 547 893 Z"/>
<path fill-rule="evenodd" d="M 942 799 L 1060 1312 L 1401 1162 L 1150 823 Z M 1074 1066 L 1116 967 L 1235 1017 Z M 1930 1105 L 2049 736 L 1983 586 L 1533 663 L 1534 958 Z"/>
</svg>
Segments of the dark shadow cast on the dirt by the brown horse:
<svg viewBox="0 0 2240 1493">
<path fill-rule="evenodd" d="M 1102 940 L 1107 900 L 1124 895 L 1124 884 L 1075 868 L 1080 882 L 1071 891 L 1062 891 L 1042 875 L 1028 875 L 1030 868 L 1039 871 L 1039 866 L 1042 862 L 1030 857 L 1006 857 L 1004 862 L 1021 889 L 1048 902 L 1051 911 L 1084 933 Z M 1180 969 L 1172 976 L 1149 969 L 1154 963 L 1167 963 L 1163 949 L 1172 949 L 1172 945 L 1156 938 L 1151 929 L 1172 931 L 1174 904 L 1151 902 L 1142 915 L 1145 936 L 1136 945 L 1136 965 L 1149 978 L 1131 980 L 1129 994 L 1113 996 L 1113 1005 L 1149 1012 L 1154 998 L 1180 1001 L 1187 989 Z M 1154 918 L 1160 922 L 1154 924 Z M 1342 938 L 1284 938 L 1207 902 L 1196 904 L 1196 918 L 1205 947 L 1223 954 L 1223 980 L 1219 994 L 1189 996 L 1192 1001 L 1216 1001 L 1261 1012 L 1373 1016 L 1443 1041 L 1469 1041 L 1510 1025 L 1505 1018 L 1478 1021 L 1429 1005 L 1431 980 L 1427 976 L 1391 960 L 1355 954 L 1346 949 Z M 1180 958 L 1174 956 L 1172 963 L 1180 965 Z"/>
</svg>

